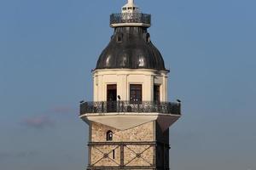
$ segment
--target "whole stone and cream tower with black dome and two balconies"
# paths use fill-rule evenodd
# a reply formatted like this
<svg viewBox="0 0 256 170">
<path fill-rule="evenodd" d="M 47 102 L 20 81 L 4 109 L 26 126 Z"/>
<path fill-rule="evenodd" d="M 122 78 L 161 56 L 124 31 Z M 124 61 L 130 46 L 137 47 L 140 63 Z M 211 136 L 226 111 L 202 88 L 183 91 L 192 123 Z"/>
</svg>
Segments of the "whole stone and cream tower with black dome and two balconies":
<svg viewBox="0 0 256 170">
<path fill-rule="evenodd" d="M 110 26 L 92 71 L 93 101 L 80 105 L 90 127 L 87 169 L 169 169 L 169 127 L 181 105 L 168 102 L 169 71 L 147 31 L 151 15 L 128 0 Z"/>
</svg>

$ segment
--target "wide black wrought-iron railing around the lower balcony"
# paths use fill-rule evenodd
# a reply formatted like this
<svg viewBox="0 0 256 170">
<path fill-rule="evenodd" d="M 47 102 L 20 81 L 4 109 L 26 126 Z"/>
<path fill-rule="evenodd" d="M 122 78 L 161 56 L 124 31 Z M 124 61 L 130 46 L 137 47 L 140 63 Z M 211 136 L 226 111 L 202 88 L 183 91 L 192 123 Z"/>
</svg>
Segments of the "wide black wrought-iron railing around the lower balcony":
<svg viewBox="0 0 256 170">
<path fill-rule="evenodd" d="M 180 115 L 180 103 L 154 101 L 100 101 L 84 102 L 80 105 L 80 115 L 88 113 L 163 113 Z"/>
</svg>

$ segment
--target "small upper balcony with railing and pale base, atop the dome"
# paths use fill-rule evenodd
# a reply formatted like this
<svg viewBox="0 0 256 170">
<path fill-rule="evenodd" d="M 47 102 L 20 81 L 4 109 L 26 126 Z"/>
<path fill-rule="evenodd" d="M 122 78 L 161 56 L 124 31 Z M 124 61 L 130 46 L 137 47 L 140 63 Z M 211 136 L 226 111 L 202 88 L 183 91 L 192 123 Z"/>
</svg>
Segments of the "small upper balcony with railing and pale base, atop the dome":
<svg viewBox="0 0 256 170">
<path fill-rule="evenodd" d="M 143 13 L 119 13 L 110 15 L 110 26 L 151 26 L 151 15 Z"/>
</svg>

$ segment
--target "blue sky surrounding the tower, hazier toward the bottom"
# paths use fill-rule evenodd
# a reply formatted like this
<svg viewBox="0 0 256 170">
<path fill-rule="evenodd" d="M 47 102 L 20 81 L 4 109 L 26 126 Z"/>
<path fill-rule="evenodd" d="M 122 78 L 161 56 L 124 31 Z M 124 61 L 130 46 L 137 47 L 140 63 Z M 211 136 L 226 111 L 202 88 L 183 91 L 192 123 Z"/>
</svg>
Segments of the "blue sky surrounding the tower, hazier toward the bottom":
<svg viewBox="0 0 256 170">
<path fill-rule="evenodd" d="M 256 2 L 137 0 L 183 101 L 172 170 L 256 170 Z M 91 69 L 125 0 L 0 0 L 0 169 L 87 165 Z"/>
</svg>

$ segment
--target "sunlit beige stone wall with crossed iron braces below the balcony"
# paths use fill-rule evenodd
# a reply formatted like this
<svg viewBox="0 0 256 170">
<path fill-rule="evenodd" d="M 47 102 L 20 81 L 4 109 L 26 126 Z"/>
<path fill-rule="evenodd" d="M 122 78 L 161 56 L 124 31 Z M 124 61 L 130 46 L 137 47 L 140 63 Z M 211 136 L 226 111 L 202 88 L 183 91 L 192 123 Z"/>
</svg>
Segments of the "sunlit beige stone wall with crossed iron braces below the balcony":
<svg viewBox="0 0 256 170">
<path fill-rule="evenodd" d="M 152 142 L 155 140 L 154 122 L 148 122 L 125 131 L 92 122 L 90 129 L 91 142 L 107 142 L 106 133 L 109 130 L 113 132 L 113 140 L 110 142 Z M 91 146 L 90 165 L 119 167 L 121 147 L 119 144 Z M 154 164 L 154 145 L 127 143 L 123 147 L 125 166 L 150 166 Z"/>
</svg>

